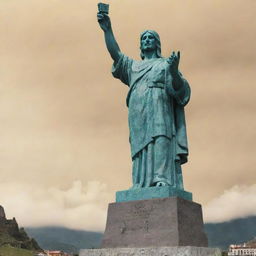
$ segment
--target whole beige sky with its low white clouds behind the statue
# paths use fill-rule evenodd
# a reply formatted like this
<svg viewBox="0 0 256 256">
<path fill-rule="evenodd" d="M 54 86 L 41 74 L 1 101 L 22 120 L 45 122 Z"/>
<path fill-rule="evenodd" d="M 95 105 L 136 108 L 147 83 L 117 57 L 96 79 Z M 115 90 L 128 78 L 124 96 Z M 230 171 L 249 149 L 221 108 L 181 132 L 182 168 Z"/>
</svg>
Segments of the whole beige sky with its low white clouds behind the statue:
<svg viewBox="0 0 256 256">
<path fill-rule="evenodd" d="M 21 226 L 102 231 L 115 192 L 131 186 L 128 88 L 94 0 L 0 1 L 0 205 Z M 185 189 L 205 222 L 256 215 L 256 1 L 108 0 L 121 51 L 139 35 L 181 51 Z"/>
</svg>

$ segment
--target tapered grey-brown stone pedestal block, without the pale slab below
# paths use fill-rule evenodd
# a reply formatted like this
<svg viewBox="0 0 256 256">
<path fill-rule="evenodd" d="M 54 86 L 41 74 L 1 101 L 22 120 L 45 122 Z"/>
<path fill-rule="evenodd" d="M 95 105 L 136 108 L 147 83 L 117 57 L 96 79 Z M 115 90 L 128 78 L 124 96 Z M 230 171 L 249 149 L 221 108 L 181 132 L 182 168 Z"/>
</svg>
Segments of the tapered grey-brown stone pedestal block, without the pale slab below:
<svg viewBox="0 0 256 256">
<path fill-rule="evenodd" d="M 207 247 L 201 205 L 179 197 L 111 203 L 101 248 Z"/>
</svg>

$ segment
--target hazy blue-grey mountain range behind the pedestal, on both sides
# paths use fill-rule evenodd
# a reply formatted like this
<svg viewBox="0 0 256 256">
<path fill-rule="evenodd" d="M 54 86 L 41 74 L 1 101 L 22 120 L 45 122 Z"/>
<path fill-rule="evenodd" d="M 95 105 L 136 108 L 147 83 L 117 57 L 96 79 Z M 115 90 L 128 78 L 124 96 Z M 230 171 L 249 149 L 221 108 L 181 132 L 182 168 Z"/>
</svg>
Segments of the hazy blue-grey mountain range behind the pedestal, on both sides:
<svg viewBox="0 0 256 256">
<path fill-rule="evenodd" d="M 97 248 L 102 233 L 78 231 L 63 227 L 26 228 L 44 249 L 59 249 L 66 252 L 78 252 L 81 248 Z M 236 219 L 222 223 L 207 223 L 205 231 L 210 247 L 226 249 L 230 244 L 243 243 L 256 236 L 256 217 Z"/>
</svg>

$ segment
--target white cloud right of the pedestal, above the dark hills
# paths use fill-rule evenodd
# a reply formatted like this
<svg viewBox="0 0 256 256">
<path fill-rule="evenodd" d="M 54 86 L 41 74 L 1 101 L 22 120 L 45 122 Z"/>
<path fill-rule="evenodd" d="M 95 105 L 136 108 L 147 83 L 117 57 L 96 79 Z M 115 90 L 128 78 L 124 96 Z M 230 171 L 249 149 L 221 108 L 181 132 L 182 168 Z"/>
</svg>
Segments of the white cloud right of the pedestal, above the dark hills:
<svg viewBox="0 0 256 256">
<path fill-rule="evenodd" d="M 205 205 L 205 222 L 222 222 L 256 215 L 256 184 L 234 186 Z"/>
</svg>

